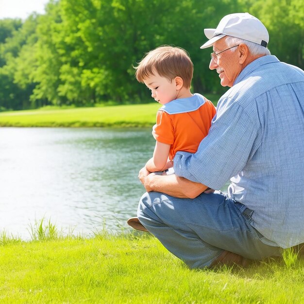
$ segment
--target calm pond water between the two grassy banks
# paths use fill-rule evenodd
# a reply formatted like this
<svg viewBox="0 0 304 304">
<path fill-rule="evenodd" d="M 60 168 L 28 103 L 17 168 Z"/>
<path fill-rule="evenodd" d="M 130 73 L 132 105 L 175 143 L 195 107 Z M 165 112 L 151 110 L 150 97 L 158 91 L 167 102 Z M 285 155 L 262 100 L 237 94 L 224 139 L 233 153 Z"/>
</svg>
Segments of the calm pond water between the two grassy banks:
<svg viewBox="0 0 304 304">
<path fill-rule="evenodd" d="M 28 239 L 43 218 L 82 236 L 129 229 L 154 143 L 150 128 L 0 128 L 0 231 Z"/>
</svg>

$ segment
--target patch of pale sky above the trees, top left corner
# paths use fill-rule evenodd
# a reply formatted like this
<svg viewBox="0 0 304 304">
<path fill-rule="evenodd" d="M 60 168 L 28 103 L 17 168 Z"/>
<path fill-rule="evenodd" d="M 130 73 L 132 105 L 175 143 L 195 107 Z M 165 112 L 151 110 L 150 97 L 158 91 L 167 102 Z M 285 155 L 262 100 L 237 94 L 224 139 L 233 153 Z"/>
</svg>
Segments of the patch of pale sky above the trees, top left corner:
<svg viewBox="0 0 304 304">
<path fill-rule="evenodd" d="M 33 12 L 44 14 L 44 6 L 48 2 L 49 0 L 0 0 L 0 19 L 25 20 Z"/>
</svg>

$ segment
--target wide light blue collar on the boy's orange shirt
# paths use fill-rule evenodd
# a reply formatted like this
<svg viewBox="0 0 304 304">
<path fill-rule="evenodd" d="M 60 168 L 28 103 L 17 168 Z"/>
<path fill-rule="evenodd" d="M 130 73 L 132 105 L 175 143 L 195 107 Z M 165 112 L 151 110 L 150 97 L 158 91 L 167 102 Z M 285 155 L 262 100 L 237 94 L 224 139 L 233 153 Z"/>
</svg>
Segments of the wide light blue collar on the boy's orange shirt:
<svg viewBox="0 0 304 304">
<path fill-rule="evenodd" d="M 203 95 L 194 93 L 188 98 L 179 98 L 164 104 L 158 111 L 164 111 L 168 114 L 181 114 L 196 111 L 203 104 L 205 104 L 206 99 Z"/>
</svg>

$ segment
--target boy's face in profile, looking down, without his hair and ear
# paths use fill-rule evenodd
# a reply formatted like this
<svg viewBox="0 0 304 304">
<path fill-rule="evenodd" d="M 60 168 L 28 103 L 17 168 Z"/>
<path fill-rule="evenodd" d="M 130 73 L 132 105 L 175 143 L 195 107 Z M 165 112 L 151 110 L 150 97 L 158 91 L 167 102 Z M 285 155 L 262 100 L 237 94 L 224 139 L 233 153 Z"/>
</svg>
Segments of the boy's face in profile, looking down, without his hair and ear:
<svg viewBox="0 0 304 304">
<path fill-rule="evenodd" d="M 175 80 L 169 81 L 168 78 L 161 77 L 157 73 L 144 80 L 144 83 L 151 90 L 152 98 L 160 104 L 166 104 L 178 95 Z"/>
</svg>

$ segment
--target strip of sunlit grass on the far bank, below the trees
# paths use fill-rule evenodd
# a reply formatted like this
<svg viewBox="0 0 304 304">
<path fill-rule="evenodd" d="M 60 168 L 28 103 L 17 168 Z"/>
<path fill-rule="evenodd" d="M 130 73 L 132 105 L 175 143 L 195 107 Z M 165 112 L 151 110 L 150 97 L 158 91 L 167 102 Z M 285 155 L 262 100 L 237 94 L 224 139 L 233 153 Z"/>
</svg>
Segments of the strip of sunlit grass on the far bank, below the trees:
<svg viewBox="0 0 304 304">
<path fill-rule="evenodd" d="M 218 101 L 216 95 L 206 96 Z M 1 127 L 151 127 L 157 102 L 85 108 L 47 107 L 37 110 L 0 113 Z"/>
</svg>

